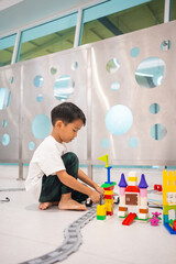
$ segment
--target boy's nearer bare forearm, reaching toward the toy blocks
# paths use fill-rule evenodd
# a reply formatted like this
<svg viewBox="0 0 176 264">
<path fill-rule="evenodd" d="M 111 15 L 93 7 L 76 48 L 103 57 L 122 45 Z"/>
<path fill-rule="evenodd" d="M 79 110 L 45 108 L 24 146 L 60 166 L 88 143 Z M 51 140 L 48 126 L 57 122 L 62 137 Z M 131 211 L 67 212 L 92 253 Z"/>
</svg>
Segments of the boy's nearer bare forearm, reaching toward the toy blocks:
<svg viewBox="0 0 176 264">
<path fill-rule="evenodd" d="M 66 170 L 61 170 L 61 172 L 57 172 L 56 174 L 57 174 L 57 177 L 59 178 L 59 180 L 64 185 L 70 187 L 72 189 L 75 189 L 75 190 L 78 190 L 80 193 L 88 195 L 94 204 L 99 202 L 100 195 L 97 191 L 90 189 L 89 187 L 87 187 L 87 186 L 82 185 L 81 183 L 79 183 L 78 180 L 76 180 L 73 176 L 67 174 Z"/>
</svg>

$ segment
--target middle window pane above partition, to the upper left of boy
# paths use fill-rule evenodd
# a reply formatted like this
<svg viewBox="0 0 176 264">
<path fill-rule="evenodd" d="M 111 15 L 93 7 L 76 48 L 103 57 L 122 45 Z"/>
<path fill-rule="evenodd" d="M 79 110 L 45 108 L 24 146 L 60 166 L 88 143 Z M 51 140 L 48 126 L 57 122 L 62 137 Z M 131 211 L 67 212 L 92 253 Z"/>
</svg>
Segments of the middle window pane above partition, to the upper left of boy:
<svg viewBox="0 0 176 264">
<path fill-rule="evenodd" d="M 77 13 L 22 33 L 18 62 L 61 52 L 74 46 Z"/>
</svg>

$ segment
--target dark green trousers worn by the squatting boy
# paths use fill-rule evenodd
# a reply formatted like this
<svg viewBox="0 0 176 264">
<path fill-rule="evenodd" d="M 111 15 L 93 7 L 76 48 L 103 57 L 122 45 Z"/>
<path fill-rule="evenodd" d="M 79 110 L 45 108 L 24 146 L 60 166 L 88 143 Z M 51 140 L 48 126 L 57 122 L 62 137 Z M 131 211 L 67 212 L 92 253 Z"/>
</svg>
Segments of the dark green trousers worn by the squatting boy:
<svg viewBox="0 0 176 264">
<path fill-rule="evenodd" d="M 68 152 L 62 156 L 67 174 L 77 179 L 79 161 L 75 153 Z M 88 196 L 73 190 L 68 186 L 62 184 L 57 175 L 44 175 L 42 178 L 42 190 L 40 202 L 59 201 L 63 194 L 72 193 L 72 198 L 78 202 L 85 201 Z"/>
</svg>

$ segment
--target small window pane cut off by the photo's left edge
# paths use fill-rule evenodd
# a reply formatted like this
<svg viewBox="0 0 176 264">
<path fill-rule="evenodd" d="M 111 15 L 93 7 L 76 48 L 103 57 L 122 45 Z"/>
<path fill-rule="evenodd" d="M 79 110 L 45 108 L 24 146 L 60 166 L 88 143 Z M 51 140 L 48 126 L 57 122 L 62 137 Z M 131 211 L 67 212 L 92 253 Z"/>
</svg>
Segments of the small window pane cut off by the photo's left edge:
<svg viewBox="0 0 176 264">
<path fill-rule="evenodd" d="M 16 34 L 0 40 L 0 66 L 11 64 L 15 36 Z"/>
</svg>

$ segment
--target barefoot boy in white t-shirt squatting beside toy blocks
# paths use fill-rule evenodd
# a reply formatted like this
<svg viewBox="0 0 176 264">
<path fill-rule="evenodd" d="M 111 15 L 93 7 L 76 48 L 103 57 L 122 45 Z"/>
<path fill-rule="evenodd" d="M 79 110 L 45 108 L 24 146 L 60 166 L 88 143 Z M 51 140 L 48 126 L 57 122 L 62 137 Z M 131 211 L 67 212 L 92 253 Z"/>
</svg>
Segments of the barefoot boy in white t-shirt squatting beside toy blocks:
<svg viewBox="0 0 176 264">
<path fill-rule="evenodd" d="M 58 205 L 61 210 L 86 210 L 80 202 L 88 197 L 94 204 L 99 202 L 103 189 L 78 167 L 77 156 L 67 152 L 65 145 L 86 124 L 85 114 L 74 103 L 63 102 L 52 110 L 51 117 L 53 131 L 34 152 L 25 183 L 26 190 L 37 197 L 42 210 L 54 205 Z"/>
</svg>

